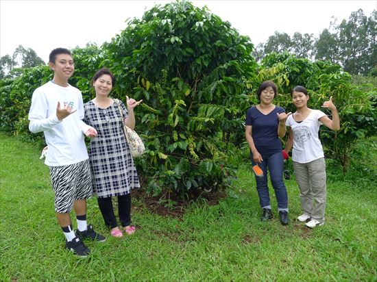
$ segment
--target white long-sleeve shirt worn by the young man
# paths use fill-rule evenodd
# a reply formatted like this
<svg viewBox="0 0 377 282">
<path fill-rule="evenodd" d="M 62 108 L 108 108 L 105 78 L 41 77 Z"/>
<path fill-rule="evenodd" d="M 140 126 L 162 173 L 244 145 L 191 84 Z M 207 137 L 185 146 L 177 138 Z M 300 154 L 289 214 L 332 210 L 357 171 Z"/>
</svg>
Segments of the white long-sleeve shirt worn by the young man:
<svg viewBox="0 0 377 282">
<path fill-rule="evenodd" d="M 71 105 L 73 114 L 58 120 L 56 107 Z M 84 142 L 84 133 L 90 126 L 86 125 L 84 105 L 80 90 L 73 86 L 62 87 L 47 82 L 37 88 L 32 97 L 29 110 L 29 130 L 32 133 L 43 131 L 49 146 L 45 164 L 47 166 L 67 166 L 88 159 L 88 151 Z"/>
</svg>

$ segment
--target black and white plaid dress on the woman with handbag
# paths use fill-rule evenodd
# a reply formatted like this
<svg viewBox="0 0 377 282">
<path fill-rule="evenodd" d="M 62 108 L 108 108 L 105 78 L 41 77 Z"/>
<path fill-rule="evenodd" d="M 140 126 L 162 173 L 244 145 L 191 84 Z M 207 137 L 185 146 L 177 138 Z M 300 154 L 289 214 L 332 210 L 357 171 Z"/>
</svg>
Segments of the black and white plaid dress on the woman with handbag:
<svg viewBox="0 0 377 282">
<path fill-rule="evenodd" d="M 127 108 L 123 103 L 121 108 L 123 116 L 127 117 Z M 131 189 L 139 188 L 134 159 L 123 133 L 123 120 L 117 103 L 101 109 L 89 101 L 84 104 L 84 110 L 84 123 L 98 132 L 90 140 L 88 150 L 93 193 L 99 198 L 107 198 L 129 194 Z"/>
</svg>

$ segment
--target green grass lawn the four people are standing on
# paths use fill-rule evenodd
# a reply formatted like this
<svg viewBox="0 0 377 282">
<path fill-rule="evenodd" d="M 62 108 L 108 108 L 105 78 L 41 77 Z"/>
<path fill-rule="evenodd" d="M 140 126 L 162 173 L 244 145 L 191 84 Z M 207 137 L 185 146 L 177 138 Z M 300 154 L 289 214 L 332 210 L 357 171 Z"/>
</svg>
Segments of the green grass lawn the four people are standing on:
<svg viewBox="0 0 377 282">
<path fill-rule="evenodd" d="M 92 253 L 80 259 L 64 251 L 38 148 L 0 134 L 0 153 L 0 281 L 377 281 L 376 181 L 330 173 L 326 224 L 314 230 L 294 220 L 299 191 L 286 181 L 292 222 L 283 227 L 273 190 L 274 218 L 260 222 L 254 176 L 243 165 L 230 196 L 193 203 L 180 218 L 135 201 L 136 233 L 87 242 Z M 95 198 L 88 222 L 108 234 Z"/>
</svg>

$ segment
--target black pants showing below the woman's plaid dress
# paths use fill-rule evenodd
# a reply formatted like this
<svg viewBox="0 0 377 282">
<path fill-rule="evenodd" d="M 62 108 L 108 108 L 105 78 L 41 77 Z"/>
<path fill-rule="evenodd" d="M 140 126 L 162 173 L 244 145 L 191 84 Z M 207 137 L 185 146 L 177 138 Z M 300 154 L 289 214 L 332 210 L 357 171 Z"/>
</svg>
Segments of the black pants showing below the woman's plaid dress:
<svg viewBox="0 0 377 282">
<path fill-rule="evenodd" d="M 119 220 L 121 220 L 121 225 L 125 227 L 131 224 L 131 193 L 117 198 Z M 110 229 L 117 227 L 118 223 L 112 207 L 112 197 L 97 198 L 97 201 L 99 210 L 104 217 L 105 225 Z"/>
</svg>

